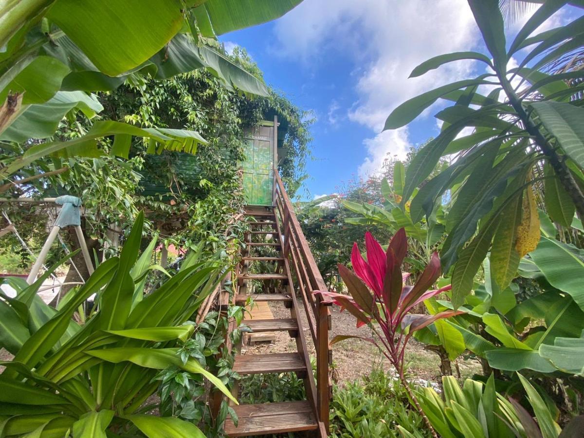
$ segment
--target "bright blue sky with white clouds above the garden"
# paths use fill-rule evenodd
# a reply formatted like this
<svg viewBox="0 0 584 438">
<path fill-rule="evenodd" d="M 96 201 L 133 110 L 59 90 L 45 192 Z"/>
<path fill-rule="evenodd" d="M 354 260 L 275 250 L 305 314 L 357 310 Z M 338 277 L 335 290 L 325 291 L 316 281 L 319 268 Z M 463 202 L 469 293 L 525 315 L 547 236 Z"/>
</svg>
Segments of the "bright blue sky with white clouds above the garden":
<svg viewBox="0 0 584 438">
<path fill-rule="evenodd" d="M 560 11 L 540 32 L 564 23 Z M 507 29 L 515 34 L 529 18 Z M 439 133 L 437 103 L 408 127 L 381 132 L 391 110 L 419 93 L 484 72 L 459 61 L 408 79 L 427 58 L 452 51 L 485 53 L 465 0 L 304 0 L 274 22 L 221 38 L 245 47 L 265 75 L 296 105 L 312 110 L 314 161 L 310 197 L 335 193 L 343 181 L 379 171 L 389 154 L 405 157 Z M 306 195 L 304 195 L 306 196 Z"/>
</svg>

